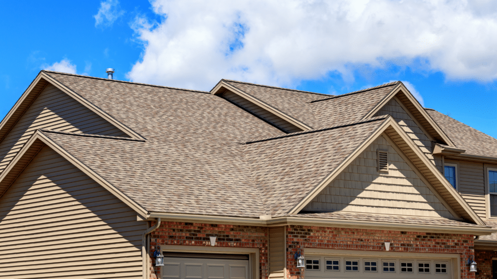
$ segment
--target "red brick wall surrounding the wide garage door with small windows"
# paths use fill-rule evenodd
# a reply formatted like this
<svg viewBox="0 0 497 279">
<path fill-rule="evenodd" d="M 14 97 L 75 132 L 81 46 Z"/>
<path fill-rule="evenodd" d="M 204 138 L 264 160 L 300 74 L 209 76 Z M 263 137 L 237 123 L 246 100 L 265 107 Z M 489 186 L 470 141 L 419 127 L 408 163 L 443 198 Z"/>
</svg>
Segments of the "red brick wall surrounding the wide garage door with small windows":
<svg viewBox="0 0 497 279">
<path fill-rule="evenodd" d="M 470 273 L 466 264 L 474 257 L 472 235 L 297 225 L 287 227 L 287 278 L 303 278 L 294 259 L 298 249 L 302 249 L 304 256 L 305 248 L 384 251 L 384 242 L 391 242 L 392 252 L 460 254 L 461 278 L 475 279 L 475 273 Z"/>
</svg>

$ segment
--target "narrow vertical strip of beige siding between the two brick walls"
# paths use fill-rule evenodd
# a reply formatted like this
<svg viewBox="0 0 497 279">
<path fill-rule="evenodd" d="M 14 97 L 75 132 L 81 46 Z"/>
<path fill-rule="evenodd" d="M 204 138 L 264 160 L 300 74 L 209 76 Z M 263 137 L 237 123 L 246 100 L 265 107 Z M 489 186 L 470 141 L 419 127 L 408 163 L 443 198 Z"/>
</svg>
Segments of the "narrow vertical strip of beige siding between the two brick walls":
<svg viewBox="0 0 497 279">
<path fill-rule="evenodd" d="M 285 228 L 269 228 L 269 278 L 284 277 L 285 247 Z"/>
</svg>

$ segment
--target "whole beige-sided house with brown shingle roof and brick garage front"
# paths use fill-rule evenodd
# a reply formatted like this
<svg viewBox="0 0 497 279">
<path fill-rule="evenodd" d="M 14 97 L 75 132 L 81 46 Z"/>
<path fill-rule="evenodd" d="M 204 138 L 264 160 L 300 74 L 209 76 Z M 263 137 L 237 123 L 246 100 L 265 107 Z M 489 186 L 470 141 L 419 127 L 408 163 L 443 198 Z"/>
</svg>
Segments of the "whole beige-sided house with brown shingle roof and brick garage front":
<svg viewBox="0 0 497 279">
<path fill-rule="evenodd" d="M 496 185 L 497 139 L 400 81 L 42 70 L 0 123 L 0 278 L 490 279 Z"/>
</svg>

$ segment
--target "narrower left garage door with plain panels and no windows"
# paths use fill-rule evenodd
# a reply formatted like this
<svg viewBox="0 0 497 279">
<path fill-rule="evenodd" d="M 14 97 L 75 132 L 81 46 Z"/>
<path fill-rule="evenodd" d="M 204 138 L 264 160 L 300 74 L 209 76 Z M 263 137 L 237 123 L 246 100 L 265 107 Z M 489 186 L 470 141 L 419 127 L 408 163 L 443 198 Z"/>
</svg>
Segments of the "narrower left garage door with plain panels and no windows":
<svg viewBox="0 0 497 279">
<path fill-rule="evenodd" d="M 249 279 L 248 255 L 164 255 L 164 279 Z"/>
</svg>

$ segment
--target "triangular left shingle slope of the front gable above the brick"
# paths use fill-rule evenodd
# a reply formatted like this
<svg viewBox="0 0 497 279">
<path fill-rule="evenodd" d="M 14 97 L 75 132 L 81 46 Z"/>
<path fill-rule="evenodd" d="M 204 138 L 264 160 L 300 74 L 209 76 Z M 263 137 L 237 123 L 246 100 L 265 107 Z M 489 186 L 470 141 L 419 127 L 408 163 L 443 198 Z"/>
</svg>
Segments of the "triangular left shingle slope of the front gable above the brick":
<svg viewBox="0 0 497 279">
<path fill-rule="evenodd" d="M 246 144 L 247 161 L 268 213 L 289 212 L 384 120 Z"/>
</svg>

